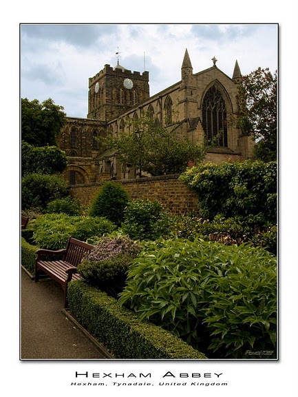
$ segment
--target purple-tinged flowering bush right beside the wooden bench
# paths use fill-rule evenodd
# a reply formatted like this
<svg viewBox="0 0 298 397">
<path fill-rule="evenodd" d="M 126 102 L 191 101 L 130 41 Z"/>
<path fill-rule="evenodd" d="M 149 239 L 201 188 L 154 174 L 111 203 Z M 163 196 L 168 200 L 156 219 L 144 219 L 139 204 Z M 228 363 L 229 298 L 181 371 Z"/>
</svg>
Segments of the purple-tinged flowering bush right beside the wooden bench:
<svg viewBox="0 0 298 397">
<path fill-rule="evenodd" d="M 103 237 L 78 265 L 78 273 L 88 284 L 116 298 L 124 288 L 129 265 L 141 250 L 127 236 Z"/>
</svg>

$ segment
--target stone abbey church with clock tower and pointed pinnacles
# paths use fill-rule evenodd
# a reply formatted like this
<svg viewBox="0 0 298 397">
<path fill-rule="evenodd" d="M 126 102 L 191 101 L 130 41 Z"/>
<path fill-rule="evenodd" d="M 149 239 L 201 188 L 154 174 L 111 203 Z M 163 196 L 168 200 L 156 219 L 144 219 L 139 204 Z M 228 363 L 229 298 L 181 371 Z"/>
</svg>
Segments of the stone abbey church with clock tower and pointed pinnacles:
<svg viewBox="0 0 298 397">
<path fill-rule="evenodd" d="M 218 145 L 207 152 L 204 162 L 251 158 L 253 139 L 242 134 L 235 123 L 227 122 L 238 113 L 240 67 L 235 61 L 233 76 L 228 77 L 217 68 L 215 57 L 211 62 L 210 68 L 194 73 L 186 50 L 181 80 L 153 96 L 149 93 L 149 72 L 131 72 L 119 61 L 114 68 L 105 65 L 89 78 L 87 118 L 67 117 L 57 139 L 67 154 L 63 174 L 67 182 L 76 185 L 138 178 L 138 170 L 120 163 L 120 154 L 105 150 L 102 139 L 107 131 L 128 131 L 127 121 L 139 119 L 143 112 L 164 127 L 175 127 L 176 133 L 193 142 L 203 143 L 218 134 Z"/>
</svg>

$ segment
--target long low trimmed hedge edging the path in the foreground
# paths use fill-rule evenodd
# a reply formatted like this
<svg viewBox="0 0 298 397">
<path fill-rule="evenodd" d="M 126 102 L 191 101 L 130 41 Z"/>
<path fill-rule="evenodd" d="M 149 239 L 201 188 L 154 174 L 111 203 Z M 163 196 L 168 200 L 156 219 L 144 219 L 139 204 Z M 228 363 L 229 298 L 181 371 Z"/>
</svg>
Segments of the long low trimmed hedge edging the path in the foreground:
<svg viewBox="0 0 298 397">
<path fill-rule="evenodd" d="M 67 292 L 70 314 L 117 358 L 206 359 L 181 339 L 136 316 L 105 292 L 72 281 Z"/>
</svg>

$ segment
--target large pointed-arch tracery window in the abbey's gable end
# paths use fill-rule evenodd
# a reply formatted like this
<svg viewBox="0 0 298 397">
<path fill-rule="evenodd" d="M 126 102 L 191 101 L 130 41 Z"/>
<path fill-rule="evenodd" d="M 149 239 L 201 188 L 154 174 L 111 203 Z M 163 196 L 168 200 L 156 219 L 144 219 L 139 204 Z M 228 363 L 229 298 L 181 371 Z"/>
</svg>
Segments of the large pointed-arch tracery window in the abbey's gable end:
<svg viewBox="0 0 298 397">
<path fill-rule="evenodd" d="M 228 147 L 228 129 L 226 125 L 226 103 L 222 93 L 213 85 L 204 97 L 202 122 L 208 143 Z M 214 138 L 217 136 L 217 139 Z"/>
</svg>

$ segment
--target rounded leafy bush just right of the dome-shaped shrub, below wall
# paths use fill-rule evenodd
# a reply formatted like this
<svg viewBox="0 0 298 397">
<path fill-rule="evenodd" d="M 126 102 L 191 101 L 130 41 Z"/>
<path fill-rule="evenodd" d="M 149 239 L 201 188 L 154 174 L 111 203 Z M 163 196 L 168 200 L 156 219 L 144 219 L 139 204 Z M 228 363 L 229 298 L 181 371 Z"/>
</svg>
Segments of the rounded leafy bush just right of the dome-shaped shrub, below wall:
<svg viewBox="0 0 298 397">
<path fill-rule="evenodd" d="M 134 240 L 155 240 L 166 234 L 170 218 L 158 201 L 130 201 L 125 208 L 123 232 Z"/>
</svg>

